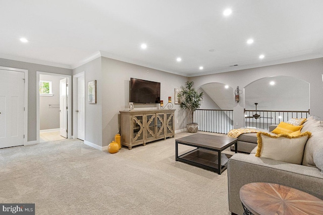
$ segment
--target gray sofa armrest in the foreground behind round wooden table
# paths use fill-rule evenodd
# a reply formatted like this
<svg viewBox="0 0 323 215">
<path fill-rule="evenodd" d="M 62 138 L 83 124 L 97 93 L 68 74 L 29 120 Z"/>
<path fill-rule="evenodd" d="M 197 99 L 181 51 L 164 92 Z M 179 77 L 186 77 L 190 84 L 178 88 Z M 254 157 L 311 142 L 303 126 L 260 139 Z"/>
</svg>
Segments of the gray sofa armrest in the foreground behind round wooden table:
<svg viewBox="0 0 323 215">
<path fill-rule="evenodd" d="M 228 161 L 229 210 L 242 214 L 240 188 L 252 182 L 267 182 L 293 187 L 323 199 L 323 176 L 317 168 L 235 154 Z"/>
</svg>

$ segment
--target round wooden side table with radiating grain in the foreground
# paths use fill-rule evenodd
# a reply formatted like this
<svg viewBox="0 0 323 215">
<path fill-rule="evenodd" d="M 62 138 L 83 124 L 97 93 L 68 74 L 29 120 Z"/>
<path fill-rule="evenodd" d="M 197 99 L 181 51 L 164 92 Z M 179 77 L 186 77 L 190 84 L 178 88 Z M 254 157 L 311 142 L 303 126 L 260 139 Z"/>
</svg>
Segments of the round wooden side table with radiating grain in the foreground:
<svg viewBox="0 0 323 215">
<path fill-rule="evenodd" d="M 240 189 L 240 199 L 244 214 L 323 214 L 323 200 L 279 184 L 245 184 Z"/>
</svg>

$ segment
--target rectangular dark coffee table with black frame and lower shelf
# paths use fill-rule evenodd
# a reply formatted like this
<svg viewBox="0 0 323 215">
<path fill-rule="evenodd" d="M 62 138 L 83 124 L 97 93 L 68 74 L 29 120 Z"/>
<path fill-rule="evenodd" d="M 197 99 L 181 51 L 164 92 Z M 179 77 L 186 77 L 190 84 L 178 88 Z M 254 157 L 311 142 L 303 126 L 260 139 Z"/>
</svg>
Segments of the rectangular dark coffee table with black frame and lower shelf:
<svg viewBox="0 0 323 215">
<path fill-rule="evenodd" d="M 202 133 L 185 136 L 175 140 L 176 161 L 211 170 L 221 175 L 227 169 L 228 162 L 228 158 L 225 155 L 221 156 L 221 152 L 234 144 L 235 153 L 237 153 L 237 141 L 237 138 Z M 179 144 L 196 149 L 179 156 Z"/>
</svg>

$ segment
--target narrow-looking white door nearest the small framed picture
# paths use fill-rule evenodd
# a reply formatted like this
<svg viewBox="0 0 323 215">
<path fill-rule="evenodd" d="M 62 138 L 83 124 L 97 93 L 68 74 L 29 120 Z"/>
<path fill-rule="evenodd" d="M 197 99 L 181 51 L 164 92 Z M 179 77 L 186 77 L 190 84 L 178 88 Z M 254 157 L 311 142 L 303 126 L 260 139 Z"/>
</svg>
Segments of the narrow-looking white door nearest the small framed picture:
<svg viewBox="0 0 323 215">
<path fill-rule="evenodd" d="M 84 76 L 77 78 L 77 138 L 84 140 L 85 137 L 85 82 Z"/>
</svg>

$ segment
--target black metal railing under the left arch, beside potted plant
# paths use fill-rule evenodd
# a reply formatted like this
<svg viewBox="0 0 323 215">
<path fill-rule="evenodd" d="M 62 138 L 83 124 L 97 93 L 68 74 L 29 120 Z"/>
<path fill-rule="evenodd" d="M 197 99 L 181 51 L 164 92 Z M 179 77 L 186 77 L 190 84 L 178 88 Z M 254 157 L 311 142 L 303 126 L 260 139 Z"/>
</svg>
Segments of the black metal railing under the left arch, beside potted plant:
<svg viewBox="0 0 323 215">
<path fill-rule="evenodd" d="M 198 123 L 199 131 L 227 134 L 233 129 L 233 110 L 197 109 L 194 122 Z"/>
</svg>

